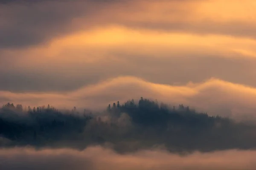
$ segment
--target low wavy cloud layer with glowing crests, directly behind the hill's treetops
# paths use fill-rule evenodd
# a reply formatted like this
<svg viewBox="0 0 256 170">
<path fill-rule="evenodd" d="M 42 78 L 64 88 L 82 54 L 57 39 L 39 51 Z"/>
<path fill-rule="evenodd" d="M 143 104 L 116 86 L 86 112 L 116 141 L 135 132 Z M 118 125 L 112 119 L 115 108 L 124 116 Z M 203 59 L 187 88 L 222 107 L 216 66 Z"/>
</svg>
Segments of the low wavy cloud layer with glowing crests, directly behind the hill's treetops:
<svg viewBox="0 0 256 170">
<path fill-rule="evenodd" d="M 23 105 L 54 105 L 59 108 L 104 109 L 108 103 L 139 99 L 141 96 L 158 99 L 171 105 L 181 103 L 209 115 L 231 116 L 237 119 L 255 117 L 256 89 L 219 79 L 185 86 L 161 85 L 136 77 L 117 77 L 64 93 L 12 93 L 0 92 L 0 102 Z"/>
</svg>

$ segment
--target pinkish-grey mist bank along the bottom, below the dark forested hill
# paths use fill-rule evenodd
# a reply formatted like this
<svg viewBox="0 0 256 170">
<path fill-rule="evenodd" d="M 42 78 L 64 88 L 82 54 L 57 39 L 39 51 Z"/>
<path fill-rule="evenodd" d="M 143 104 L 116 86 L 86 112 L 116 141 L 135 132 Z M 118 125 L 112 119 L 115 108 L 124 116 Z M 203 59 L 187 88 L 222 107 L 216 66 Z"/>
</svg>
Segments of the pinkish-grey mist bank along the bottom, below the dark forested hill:
<svg viewBox="0 0 256 170">
<path fill-rule="evenodd" d="M 3 170 L 254 170 L 256 151 L 226 150 L 180 156 L 165 150 L 120 155 L 104 147 L 85 150 L 0 149 Z"/>
</svg>

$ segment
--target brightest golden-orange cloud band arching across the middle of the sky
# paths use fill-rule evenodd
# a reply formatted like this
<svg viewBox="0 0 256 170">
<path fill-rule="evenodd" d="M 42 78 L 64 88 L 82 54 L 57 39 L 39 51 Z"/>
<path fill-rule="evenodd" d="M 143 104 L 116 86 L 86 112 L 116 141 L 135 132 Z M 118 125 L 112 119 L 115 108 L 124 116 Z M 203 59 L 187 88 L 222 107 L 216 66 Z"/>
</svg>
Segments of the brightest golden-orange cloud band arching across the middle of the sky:
<svg viewBox="0 0 256 170">
<path fill-rule="evenodd" d="M 15 67 L 26 68 L 38 65 L 61 65 L 80 62 L 98 62 L 114 52 L 157 57 L 193 56 L 207 57 L 255 57 L 256 41 L 247 38 L 221 35 L 200 36 L 187 33 L 159 33 L 145 29 L 130 29 L 120 26 L 94 28 L 76 34 L 53 39 L 49 45 L 35 48 L 5 50 L 3 56 L 12 60 Z M 35 57 L 36 56 L 36 57 Z M 113 56 L 121 58 L 122 56 Z M 8 60 L 8 59 L 6 59 Z M 40 62 L 38 62 L 40 60 Z M 49 62 L 49 60 L 51 62 Z M 27 65 L 33 62 L 33 65 Z M 3 65 L 4 67 L 4 65 Z"/>
</svg>

